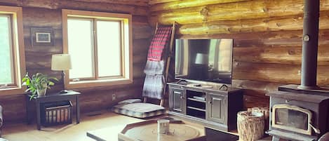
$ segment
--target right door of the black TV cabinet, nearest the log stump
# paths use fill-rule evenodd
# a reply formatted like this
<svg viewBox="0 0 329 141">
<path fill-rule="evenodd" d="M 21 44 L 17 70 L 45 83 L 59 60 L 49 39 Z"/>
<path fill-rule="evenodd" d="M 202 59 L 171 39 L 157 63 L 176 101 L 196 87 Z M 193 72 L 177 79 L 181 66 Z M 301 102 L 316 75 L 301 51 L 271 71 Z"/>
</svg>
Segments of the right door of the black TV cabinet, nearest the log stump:
<svg viewBox="0 0 329 141">
<path fill-rule="evenodd" d="M 224 123 L 225 97 L 208 93 L 206 105 L 206 119 L 218 123 Z"/>
</svg>

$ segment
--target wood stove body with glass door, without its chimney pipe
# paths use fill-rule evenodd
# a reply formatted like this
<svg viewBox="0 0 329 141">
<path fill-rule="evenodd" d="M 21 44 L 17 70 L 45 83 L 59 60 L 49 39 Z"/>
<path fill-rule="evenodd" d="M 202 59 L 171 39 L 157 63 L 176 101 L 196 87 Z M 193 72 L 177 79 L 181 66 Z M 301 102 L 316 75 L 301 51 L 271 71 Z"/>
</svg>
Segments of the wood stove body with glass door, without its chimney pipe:
<svg viewBox="0 0 329 141">
<path fill-rule="evenodd" d="M 269 130 L 273 140 L 312 141 L 329 131 L 329 90 L 280 86 L 270 96 Z"/>
</svg>

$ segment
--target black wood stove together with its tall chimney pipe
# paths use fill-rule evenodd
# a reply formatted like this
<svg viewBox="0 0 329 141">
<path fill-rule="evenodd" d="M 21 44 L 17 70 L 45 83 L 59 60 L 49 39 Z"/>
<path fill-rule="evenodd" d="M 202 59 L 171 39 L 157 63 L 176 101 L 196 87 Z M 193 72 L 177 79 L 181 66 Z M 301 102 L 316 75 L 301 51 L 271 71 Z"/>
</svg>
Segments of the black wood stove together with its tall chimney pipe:
<svg viewBox="0 0 329 141">
<path fill-rule="evenodd" d="M 320 0 L 304 0 L 301 85 L 267 93 L 273 141 L 313 141 L 329 131 L 329 90 L 316 86 Z"/>
</svg>

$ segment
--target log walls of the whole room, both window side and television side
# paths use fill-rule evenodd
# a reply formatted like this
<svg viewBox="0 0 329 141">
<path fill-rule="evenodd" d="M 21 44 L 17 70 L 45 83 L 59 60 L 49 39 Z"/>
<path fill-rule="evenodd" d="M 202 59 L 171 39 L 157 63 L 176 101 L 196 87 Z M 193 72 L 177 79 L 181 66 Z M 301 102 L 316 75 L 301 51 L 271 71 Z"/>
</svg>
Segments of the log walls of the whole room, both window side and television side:
<svg viewBox="0 0 329 141">
<path fill-rule="evenodd" d="M 117 100 L 140 97 L 152 26 L 178 22 L 178 38 L 234 39 L 233 86 L 245 89 L 245 107 L 269 105 L 264 95 L 286 83 L 300 83 L 303 0 L 2 0 L 22 6 L 27 72 L 51 71 L 51 55 L 62 53 L 62 8 L 133 15 L 134 83 L 80 89 L 81 112 L 105 109 Z M 329 0 L 321 0 L 318 85 L 328 86 Z M 148 20 L 148 22 L 147 22 Z M 31 46 L 30 27 L 53 27 L 54 46 Z M 51 90 L 62 89 L 56 83 Z M 127 89 L 129 88 L 129 89 Z M 22 94 L 1 95 L 6 122 L 25 119 Z"/>
</svg>

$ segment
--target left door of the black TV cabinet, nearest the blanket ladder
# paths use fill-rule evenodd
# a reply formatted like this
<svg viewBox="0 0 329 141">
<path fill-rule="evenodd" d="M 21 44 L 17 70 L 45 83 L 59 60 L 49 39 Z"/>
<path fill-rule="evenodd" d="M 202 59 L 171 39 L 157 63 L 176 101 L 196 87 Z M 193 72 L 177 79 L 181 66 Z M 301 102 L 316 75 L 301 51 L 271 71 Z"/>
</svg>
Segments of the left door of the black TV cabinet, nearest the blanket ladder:
<svg viewBox="0 0 329 141">
<path fill-rule="evenodd" d="M 170 111 L 185 114 L 185 95 L 184 90 L 171 88 L 170 90 Z"/>
</svg>

